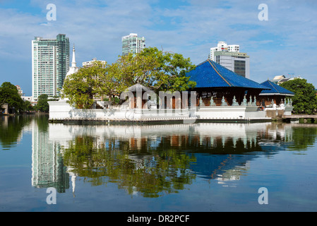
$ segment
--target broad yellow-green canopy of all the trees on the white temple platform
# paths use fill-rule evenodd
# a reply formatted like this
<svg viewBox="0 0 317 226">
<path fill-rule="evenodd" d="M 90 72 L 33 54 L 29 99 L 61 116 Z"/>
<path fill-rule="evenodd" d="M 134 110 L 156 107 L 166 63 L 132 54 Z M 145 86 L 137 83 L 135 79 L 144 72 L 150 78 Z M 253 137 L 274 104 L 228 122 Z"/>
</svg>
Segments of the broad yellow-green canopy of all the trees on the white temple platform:
<svg viewBox="0 0 317 226">
<path fill-rule="evenodd" d="M 181 54 L 147 48 L 138 54 L 119 56 L 113 64 L 95 61 L 64 81 L 62 97 L 77 108 L 90 108 L 93 97 L 114 97 L 132 85 L 140 84 L 159 91 L 184 91 L 194 88 L 186 72 L 195 69 Z"/>
</svg>

